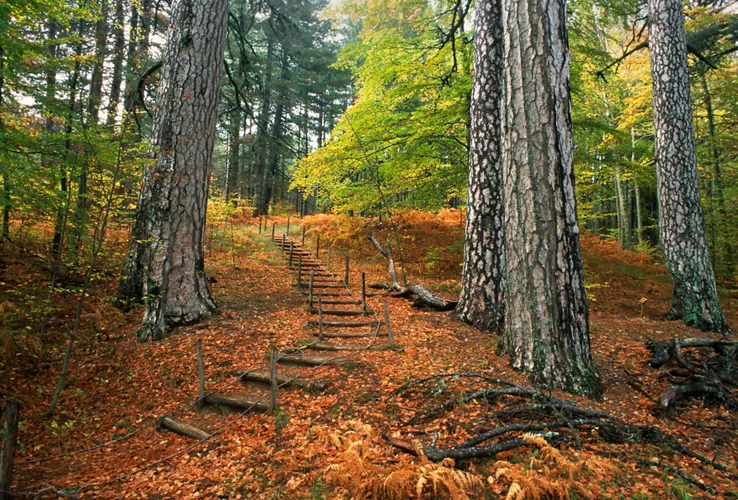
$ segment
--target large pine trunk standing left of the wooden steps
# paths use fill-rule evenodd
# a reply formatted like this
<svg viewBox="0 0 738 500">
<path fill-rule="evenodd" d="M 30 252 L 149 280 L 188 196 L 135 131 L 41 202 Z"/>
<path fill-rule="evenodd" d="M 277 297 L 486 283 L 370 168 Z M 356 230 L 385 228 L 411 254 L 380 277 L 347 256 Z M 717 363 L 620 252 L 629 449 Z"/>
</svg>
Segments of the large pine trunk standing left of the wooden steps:
<svg viewBox="0 0 738 500">
<path fill-rule="evenodd" d="M 139 270 L 143 283 L 141 340 L 215 309 L 204 237 L 227 13 L 227 0 L 180 0 L 173 8 L 152 138 L 158 159 L 144 175 L 134 228 L 145 238 L 132 239 L 125 268 Z"/>
</svg>

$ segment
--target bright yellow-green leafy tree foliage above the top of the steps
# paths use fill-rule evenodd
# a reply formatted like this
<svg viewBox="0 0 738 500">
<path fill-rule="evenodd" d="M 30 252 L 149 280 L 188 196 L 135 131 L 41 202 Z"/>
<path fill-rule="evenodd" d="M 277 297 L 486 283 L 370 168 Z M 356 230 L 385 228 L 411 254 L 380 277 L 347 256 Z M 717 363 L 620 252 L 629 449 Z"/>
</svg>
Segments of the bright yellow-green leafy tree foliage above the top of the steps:
<svg viewBox="0 0 738 500">
<path fill-rule="evenodd" d="M 362 22 L 338 61 L 354 74 L 357 97 L 326 146 L 298 163 L 293 187 L 337 212 L 366 214 L 440 208 L 463 196 L 472 54 L 466 33 L 443 43 L 448 7 L 344 5 Z"/>
</svg>

